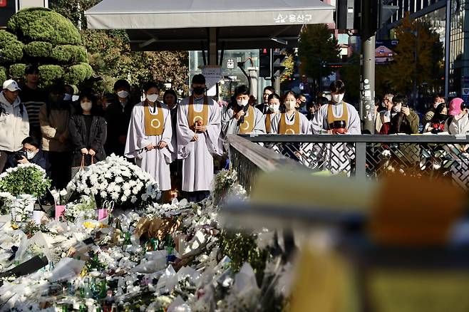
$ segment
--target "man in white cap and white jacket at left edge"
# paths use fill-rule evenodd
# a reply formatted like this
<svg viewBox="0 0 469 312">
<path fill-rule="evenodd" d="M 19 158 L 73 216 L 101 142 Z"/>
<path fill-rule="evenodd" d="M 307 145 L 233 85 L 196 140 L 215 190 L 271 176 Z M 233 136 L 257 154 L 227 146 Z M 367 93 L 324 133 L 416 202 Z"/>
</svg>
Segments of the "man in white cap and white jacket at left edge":
<svg viewBox="0 0 469 312">
<path fill-rule="evenodd" d="M 21 142 L 29 136 L 28 112 L 19 100 L 20 90 L 15 80 L 6 80 L 0 93 L 0 172 L 9 155 L 21 150 Z"/>
</svg>

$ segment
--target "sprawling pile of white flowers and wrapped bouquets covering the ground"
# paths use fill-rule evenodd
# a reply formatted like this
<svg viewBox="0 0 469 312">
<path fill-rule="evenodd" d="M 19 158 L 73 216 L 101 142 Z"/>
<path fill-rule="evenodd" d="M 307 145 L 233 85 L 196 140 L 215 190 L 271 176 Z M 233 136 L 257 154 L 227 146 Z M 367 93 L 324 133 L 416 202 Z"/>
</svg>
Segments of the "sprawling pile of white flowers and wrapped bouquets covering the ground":
<svg viewBox="0 0 469 312">
<path fill-rule="evenodd" d="M 235 172 L 220 175 L 235 177 Z M 215 180 L 246 198 L 236 180 Z M 289 288 L 289 279 L 280 277 L 292 270 L 273 232 L 225 232 L 214 198 L 151 203 L 100 221 L 96 214 L 79 217 L 96 212 L 92 198 L 83 195 L 69 204 L 66 222 L 46 221 L 28 227 L 27 234 L 0 222 L 2 271 L 35 255 L 49 261 L 33 274 L 4 278 L 1 308 L 280 311 Z"/>
</svg>

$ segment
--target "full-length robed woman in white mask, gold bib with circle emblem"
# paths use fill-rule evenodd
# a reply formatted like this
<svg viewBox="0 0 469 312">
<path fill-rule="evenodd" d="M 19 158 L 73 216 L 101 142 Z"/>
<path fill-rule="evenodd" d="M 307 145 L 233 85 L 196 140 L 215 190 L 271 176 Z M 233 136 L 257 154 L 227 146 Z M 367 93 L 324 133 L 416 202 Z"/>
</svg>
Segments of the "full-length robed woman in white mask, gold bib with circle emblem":
<svg viewBox="0 0 469 312">
<path fill-rule="evenodd" d="M 132 110 L 125 156 L 135 158 L 137 165 L 148 172 L 160 186 L 171 189 L 170 163 L 174 147 L 171 114 L 168 106 L 158 102 L 160 90 L 155 83 L 143 87 L 146 99 Z"/>
</svg>

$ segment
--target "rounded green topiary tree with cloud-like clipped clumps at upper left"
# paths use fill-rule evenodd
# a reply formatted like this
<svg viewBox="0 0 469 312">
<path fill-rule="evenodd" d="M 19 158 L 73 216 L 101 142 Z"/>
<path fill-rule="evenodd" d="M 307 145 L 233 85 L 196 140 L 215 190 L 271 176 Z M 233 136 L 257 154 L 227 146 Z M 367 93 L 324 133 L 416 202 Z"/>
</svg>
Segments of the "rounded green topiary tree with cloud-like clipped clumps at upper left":
<svg viewBox="0 0 469 312">
<path fill-rule="evenodd" d="M 0 31 L 0 78 L 19 79 L 35 64 L 43 86 L 56 80 L 79 84 L 91 77 L 81 35 L 68 19 L 44 8 L 23 9 Z"/>
</svg>

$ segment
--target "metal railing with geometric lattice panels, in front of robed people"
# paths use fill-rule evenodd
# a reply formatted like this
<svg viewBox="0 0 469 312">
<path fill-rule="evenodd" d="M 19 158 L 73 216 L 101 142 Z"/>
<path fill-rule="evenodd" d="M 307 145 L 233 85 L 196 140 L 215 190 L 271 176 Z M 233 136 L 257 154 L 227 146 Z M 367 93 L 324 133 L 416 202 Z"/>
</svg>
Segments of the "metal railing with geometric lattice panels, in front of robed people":
<svg viewBox="0 0 469 312">
<path fill-rule="evenodd" d="M 311 170 L 379 178 L 390 172 L 453 180 L 469 189 L 465 135 L 242 135 Z"/>
</svg>

